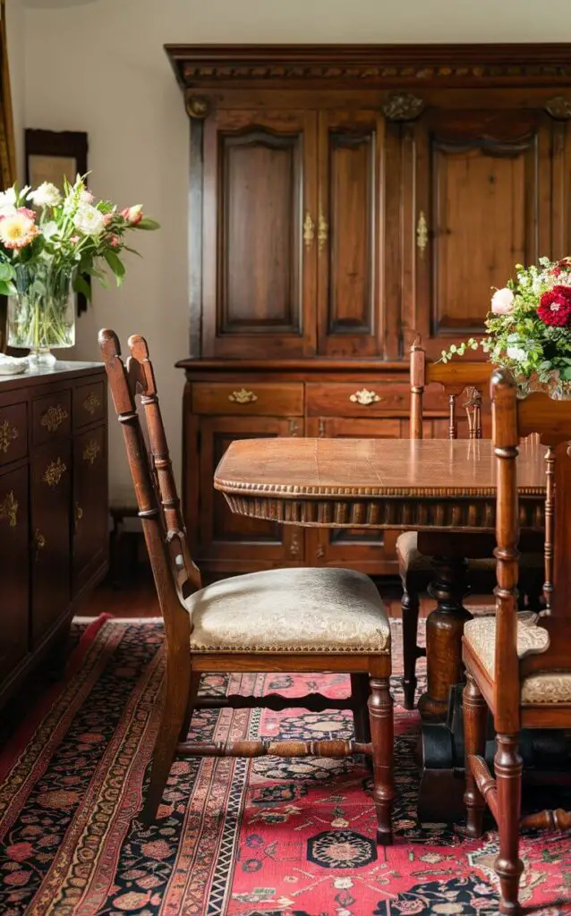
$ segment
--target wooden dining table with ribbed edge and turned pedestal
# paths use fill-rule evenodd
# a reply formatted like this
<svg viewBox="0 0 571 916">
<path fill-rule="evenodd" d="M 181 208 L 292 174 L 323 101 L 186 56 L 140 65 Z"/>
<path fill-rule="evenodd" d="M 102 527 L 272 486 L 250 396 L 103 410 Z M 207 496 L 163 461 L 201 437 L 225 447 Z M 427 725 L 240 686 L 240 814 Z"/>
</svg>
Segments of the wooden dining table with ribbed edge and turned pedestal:
<svg viewBox="0 0 571 916">
<path fill-rule="evenodd" d="M 544 452 L 530 439 L 518 457 L 524 550 L 543 543 Z M 247 439 L 231 443 L 214 474 L 215 489 L 239 515 L 419 532 L 420 551 L 433 558 L 436 602 L 426 622 L 427 689 L 419 710 L 425 722 L 442 725 L 451 688 L 462 679 L 461 638 L 471 616 L 463 604 L 466 557 L 491 556 L 496 486 L 489 440 Z M 443 732 L 442 741 L 450 740 Z"/>
</svg>

